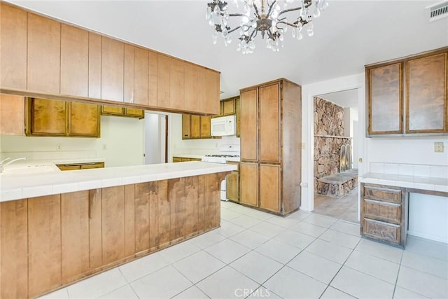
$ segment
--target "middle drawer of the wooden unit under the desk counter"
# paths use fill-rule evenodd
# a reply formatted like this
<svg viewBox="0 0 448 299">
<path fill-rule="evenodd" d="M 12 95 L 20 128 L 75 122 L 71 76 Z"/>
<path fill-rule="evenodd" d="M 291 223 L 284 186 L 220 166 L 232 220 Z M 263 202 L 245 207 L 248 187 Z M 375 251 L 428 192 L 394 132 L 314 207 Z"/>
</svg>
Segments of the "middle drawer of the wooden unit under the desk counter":
<svg viewBox="0 0 448 299">
<path fill-rule="evenodd" d="M 401 223 L 401 204 L 364 200 L 364 216 L 389 223 Z"/>
</svg>

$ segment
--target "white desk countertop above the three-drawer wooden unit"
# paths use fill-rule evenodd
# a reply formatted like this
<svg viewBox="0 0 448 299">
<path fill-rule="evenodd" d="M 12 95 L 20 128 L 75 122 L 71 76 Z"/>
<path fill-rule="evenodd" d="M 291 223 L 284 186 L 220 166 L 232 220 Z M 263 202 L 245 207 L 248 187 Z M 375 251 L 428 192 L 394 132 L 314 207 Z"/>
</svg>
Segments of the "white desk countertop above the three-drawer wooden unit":
<svg viewBox="0 0 448 299">
<path fill-rule="evenodd" d="M 448 192 L 448 179 L 440 177 L 367 172 L 367 174 L 359 177 L 359 181 L 360 183 L 377 183 L 379 185 Z"/>
</svg>

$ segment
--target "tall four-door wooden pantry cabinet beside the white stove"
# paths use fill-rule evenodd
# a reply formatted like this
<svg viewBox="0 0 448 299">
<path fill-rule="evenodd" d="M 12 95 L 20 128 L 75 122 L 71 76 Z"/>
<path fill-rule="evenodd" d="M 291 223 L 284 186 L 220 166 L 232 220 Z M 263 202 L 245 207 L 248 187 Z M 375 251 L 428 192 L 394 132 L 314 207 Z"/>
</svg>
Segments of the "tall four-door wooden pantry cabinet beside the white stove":
<svg viewBox="0 0 448 299">
<path fill-rule="evenodd" d="M 279 79 L 240 90 L 240 201 L 275 214 L 300 207 L 302 88 Z"/>
</svg>

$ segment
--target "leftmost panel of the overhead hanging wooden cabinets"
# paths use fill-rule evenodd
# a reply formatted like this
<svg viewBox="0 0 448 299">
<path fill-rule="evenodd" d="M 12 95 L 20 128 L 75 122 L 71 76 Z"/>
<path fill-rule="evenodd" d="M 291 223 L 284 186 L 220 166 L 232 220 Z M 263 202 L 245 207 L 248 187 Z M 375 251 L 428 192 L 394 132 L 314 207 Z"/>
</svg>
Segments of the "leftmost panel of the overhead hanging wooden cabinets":
<svg viewBox="0 0 448 299">
<path fill-rule="evenodd" d="M 0 85 L 27 89 L 27 12 L 0 2 Z"/>
</svg>

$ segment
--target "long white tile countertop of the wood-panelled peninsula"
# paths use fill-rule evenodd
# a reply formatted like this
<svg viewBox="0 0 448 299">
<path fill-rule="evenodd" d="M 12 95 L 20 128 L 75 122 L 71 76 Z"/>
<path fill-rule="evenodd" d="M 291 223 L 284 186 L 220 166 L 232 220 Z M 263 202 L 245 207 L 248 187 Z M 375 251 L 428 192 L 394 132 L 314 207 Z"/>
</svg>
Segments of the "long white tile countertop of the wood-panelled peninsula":
<svg viewBox="0 0 448 299">
<path fill-rule="evenodd" d="M 183 162 L 72 170 L 45 174 L 0 174 L 0 202 L 185 176 L 231 172 L 236 165 Z"/>
</svg>

